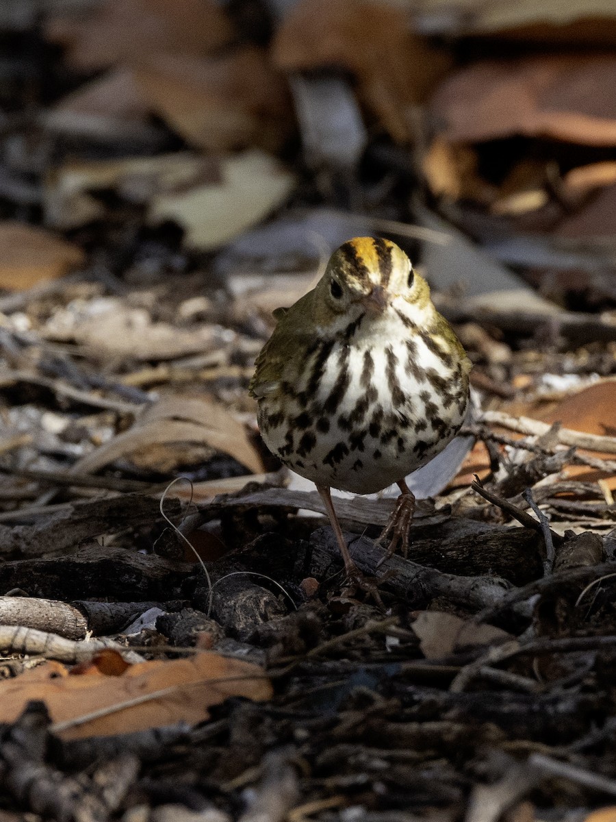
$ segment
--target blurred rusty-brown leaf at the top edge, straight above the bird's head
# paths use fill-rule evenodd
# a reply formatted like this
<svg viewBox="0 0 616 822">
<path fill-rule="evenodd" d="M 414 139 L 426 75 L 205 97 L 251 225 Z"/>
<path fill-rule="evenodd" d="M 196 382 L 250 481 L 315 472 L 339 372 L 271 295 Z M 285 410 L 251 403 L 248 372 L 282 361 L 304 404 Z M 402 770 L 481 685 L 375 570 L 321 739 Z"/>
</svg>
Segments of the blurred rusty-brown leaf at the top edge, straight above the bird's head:
<svg viewBox="0 0 616 822">
<path fill-rule="evenodd" d="M 394 140 L 412 138 L 410 109 L 451 65 L 450 56 L 411 32 L 402 8 L 370 0 L 300 0 L 274 39 L 274 62 L 287 72 L 342 66 Z"/>
</svg>

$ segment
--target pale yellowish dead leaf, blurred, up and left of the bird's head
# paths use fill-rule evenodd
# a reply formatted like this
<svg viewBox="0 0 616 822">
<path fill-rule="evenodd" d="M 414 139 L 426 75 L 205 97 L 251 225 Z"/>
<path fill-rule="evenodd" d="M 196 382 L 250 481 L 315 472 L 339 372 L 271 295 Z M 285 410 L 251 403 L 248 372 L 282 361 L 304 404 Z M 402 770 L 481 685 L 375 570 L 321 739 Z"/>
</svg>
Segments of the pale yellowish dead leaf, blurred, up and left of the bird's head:
<svg viewBox="0 0 616 822">
<path fill-rule="evenodd" d="M 245 151 L 220 162 L 222 182 L 154 196 L 149 222 L 174 220 L 186 231 L 186 245 L 207 251 L 264 219 L 295 185 L 293 174 L 261 151 Z"/>
</svg>

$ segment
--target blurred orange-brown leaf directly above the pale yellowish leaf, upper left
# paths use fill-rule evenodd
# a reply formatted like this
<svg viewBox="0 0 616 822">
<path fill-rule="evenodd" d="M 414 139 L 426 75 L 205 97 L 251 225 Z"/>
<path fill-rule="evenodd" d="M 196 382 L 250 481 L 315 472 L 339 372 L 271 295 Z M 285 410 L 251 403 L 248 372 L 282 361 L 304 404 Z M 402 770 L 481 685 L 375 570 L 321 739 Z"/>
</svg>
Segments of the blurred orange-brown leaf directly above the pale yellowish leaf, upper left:
<svg viewBox="0 0 616 822">
<path fill-rule="evenodd" d="M 253 46 L 205 60 L 156 55 L 135 72 L 150 109 L 188 143 L 210 151 L 276 151 L 293 123 L 287 85 Z"/>
</svg>

